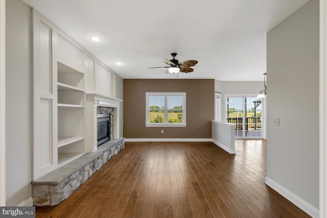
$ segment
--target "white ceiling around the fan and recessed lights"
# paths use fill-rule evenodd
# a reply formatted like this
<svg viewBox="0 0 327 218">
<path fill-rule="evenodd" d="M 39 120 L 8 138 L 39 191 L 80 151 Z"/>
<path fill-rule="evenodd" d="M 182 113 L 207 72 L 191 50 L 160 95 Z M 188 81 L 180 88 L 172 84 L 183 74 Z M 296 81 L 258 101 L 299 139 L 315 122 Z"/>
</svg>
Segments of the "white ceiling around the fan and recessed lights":
<svg viewBox="0 0 327 218">
<path fill-rule="evenodd" d="M 124 79 L 172 79 L 161 58 L 198 60 L 180 79 L 263 81 L 266 33 L 308 0 L 23 0 Z M 90 36 L 102 40 L 94 42 Z M 118 66 L 115 63 L 122 62 Z"/>
</svg>

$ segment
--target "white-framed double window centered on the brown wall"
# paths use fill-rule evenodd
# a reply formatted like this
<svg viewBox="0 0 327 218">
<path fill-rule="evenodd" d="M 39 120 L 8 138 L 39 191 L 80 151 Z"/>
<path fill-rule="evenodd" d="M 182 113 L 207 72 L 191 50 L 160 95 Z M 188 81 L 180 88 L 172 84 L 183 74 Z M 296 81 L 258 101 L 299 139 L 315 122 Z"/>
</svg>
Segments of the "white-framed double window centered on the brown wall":
<svg viewBox="0 0 327 218">
<path fill-rule="evenodd" d="M 147 127 L 185 127 L 186 92 L 146 92 Z"/>
</svg>

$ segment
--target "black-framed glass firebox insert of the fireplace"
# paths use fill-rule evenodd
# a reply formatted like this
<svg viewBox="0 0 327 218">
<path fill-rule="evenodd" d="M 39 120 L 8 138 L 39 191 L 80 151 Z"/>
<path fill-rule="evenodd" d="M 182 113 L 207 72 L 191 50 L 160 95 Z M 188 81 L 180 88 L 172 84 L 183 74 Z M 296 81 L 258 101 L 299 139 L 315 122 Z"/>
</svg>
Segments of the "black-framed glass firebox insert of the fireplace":
<svg viewBox="0 0 327 218">
<path fill-rule="evenodd" d="M 110 140 L 110 114 L 98 114 L 98 146 Z"/>
</svg>

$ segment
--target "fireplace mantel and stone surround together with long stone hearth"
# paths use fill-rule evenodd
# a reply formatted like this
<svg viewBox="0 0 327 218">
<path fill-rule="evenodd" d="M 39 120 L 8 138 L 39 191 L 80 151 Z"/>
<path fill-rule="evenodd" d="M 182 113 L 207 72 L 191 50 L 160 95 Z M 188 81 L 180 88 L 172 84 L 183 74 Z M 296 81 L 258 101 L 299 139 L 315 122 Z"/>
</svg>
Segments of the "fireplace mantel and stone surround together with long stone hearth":
<svg viewBox="0 0 327 218">
<path fill-rule="evenodd" d="M 125 147 L 125 138 L 119 138 L 119 103 L 121 100 L 98 94 L 86 94 L 86 153 L 80 158 L 32 181 L 32 198 L 35 206 L 57 205 L 91 177 L 114 155 Z M 112 139 L 97 146 L 97 114 L 112 114 Z"/>
</svg>

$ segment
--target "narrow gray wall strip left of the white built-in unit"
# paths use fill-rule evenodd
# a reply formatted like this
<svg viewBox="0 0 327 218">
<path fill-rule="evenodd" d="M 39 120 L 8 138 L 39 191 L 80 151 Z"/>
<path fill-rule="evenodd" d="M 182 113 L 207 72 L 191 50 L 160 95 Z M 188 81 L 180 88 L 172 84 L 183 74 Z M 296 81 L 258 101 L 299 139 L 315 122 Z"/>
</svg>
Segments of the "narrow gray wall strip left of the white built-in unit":
<svg viewBox="0 0 327 218">
<path fill-rule="evenodd" d="M 31 8 L 6 1 L 6 205 L 31 197 Z"/>
</svg>

